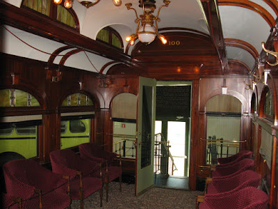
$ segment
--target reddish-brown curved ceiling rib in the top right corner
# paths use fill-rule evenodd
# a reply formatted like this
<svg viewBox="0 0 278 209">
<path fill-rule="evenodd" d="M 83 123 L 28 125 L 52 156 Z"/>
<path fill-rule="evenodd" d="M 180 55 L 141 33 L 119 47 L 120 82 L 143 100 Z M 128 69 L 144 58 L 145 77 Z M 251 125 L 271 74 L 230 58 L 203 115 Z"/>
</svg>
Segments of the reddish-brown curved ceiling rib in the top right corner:
<svg viewBox="0 0 278 209">
<path fill-rule="evenodd" d="M 259 4 L 248 0 L 218 0 L 219 6 L 240 6 L 243 8 L 250 9 L 263 17 L 263 19 L 268 22 L 269 26 L 272 28 L 275 26 L 275 19 L 268 13 L 265 8 L 259 6 Z"/>
</svg>

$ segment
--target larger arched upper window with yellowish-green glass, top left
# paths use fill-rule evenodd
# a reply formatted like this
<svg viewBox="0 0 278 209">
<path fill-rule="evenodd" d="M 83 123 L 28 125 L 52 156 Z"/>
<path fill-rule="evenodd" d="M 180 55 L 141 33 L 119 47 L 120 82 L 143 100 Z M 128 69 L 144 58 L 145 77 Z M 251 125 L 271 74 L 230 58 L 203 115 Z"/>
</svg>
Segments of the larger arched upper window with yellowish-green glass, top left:
<svg viewBox="0 0 278 209">
<path fill-rule="evenodd" d="M 66 9 L 61 5 L 56 5 L 52 0 L 24 0 L 22 8 L 35 10 L 42 15 L 50 17 L 79 31 L 79 21 L 72 8 Z"/>
</svg>

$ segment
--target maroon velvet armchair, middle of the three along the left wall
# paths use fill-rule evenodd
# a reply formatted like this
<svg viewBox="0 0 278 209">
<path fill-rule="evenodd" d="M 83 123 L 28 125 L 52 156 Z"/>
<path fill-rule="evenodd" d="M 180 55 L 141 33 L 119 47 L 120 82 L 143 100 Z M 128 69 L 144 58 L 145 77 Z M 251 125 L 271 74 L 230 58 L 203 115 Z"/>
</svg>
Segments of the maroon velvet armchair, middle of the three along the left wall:
<svg viewBox="0 0 278 209">
<path fill-rule="evenodd" d="M 72 199 L 80 200 L 83 208 L 83 199 L 99 191 L 100 206 L 102 207 L 102 180 L 101 167 L 96 162 L 85 160 L 76 155 L 73 150 L 55 150 L 50 153 L 52 171 L 70 176 Z M 100 176 L 100 178 L 92 177 Z"/>
</svg>

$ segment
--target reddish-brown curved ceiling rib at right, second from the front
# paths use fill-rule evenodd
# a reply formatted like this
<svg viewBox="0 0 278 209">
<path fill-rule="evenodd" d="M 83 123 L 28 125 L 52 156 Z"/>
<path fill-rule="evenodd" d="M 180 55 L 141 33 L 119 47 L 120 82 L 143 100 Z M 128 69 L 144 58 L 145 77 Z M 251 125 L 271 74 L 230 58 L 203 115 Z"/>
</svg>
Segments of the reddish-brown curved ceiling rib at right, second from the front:
<svg viewBox="0 0 278 209">
<path fill-rule="evenodd" d="M 245 51 L 249 52 L 254 57 L 255 60 L 258 59 L 259 57 L 259 53 L 256 51 L 255 47 L 250 45 L 250 43 L 245 42 L 244 40 L 235 39 L 235 38 L 225 38 L 224 42 L 227 46 L 244 49 Z"/>
</svg>

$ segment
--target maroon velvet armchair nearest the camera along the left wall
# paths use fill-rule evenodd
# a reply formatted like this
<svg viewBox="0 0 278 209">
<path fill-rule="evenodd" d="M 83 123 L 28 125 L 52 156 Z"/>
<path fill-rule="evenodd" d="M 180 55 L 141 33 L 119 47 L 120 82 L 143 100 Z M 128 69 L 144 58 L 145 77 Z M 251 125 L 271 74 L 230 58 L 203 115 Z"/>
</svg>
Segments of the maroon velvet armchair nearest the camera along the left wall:
<svg viewBox="0 0 278 209">
<path fill-rule="evenodd" d="M 31 159 L 13 160 L 3 165 L 7 196 L 22 199 L 22 208 L 67 208 L 70 196 L 67 180 Z M 6 197 L 6 204 L 9 199 Z M 13 203 L 10 202 L 10 206 Z M 14 207 L 14 205 L 13 205 Z M 17 205 L 18 208 L 18 205 Z"/>
</svg>

